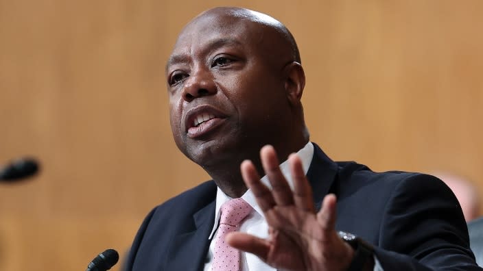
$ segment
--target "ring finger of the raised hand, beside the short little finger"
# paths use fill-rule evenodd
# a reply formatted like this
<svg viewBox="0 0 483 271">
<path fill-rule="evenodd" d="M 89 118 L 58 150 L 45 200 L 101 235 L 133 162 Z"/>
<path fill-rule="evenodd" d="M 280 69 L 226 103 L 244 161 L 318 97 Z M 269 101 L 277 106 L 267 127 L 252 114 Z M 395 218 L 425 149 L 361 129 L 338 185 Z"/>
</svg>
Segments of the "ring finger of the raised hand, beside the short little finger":
<svg viewBox="0 0 483 271">
<path fill-rule="evenodd" d="M 292 179 L 294 180 L 294 203 L 296 207 L 314 213 L 315 207 L 312 190 L 303 172 L 301 158 L 295 153 L 292 153 L 288 157 L 288 162 L 290 164 Z"/>
</svg>

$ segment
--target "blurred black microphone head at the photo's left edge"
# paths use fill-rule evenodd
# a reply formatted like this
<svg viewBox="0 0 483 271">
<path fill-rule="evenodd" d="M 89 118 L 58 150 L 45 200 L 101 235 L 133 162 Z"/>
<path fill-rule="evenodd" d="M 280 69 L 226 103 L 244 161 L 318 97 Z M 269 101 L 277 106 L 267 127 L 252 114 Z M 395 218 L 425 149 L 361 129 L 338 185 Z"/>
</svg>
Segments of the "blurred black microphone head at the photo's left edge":
<svg viewBox="0 0 483 271">
<path fill-rule="evenodd" d="M 3 168 L 0 167 L 0 181 L 12 182 L 31 177 L 39 168 L 38 162 L 33 158 L 16 159 Z"/>
</svg>

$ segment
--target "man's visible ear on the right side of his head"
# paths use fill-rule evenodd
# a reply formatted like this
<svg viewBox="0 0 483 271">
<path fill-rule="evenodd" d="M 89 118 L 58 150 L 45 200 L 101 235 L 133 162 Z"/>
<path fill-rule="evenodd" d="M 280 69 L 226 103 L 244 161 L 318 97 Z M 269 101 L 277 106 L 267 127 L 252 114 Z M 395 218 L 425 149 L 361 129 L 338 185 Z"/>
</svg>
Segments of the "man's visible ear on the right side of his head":
<svg viewBox="0 0 483 271">
<path fill-rule="evenodd" d="M 303 88 L 305 88 L 305 73 L 302 65 L 298 62 L 287 64 L 284 74 L 287 99 L 292 105 L 297 105 L 301 102 Z"/>
</svg>

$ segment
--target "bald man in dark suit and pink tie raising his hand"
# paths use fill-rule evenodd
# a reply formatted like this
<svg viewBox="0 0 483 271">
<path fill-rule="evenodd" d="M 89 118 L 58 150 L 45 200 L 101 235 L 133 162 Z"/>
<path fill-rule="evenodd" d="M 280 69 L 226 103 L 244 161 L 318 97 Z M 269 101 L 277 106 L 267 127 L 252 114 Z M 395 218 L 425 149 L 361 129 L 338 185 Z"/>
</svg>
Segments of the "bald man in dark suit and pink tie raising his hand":
<svg viewBox="0 0 483 271">
<path fill-rule="evenodd" d="M 333 162 L 309 142 L 305 75 L 279 21 L 208 10 L 166 77 L 176 145 L 213 181 L 148 215 L 128 270 L 480 270 L 438 179 Z"/>
</svg>

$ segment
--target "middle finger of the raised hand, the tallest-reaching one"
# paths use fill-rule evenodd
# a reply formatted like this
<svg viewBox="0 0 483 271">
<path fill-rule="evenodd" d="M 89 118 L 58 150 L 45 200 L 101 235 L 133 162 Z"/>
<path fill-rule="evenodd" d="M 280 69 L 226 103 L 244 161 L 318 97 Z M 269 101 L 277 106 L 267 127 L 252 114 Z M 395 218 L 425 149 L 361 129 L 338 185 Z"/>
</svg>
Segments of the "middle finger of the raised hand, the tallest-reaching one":
<svg viewBox="0 0 483 271">
<path fill-rule="evenodd" d="M 263 146 L 260 151 L 261 165 L 265 174 L 272 185 L 272 195 L 277 205 L 292 205 L 294 199 L 292 190 L 283 176 L 280 167 L 279 159 L 276 158 L 275 149 L 273 146 Z"/>
</svg>

